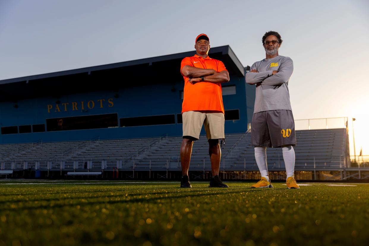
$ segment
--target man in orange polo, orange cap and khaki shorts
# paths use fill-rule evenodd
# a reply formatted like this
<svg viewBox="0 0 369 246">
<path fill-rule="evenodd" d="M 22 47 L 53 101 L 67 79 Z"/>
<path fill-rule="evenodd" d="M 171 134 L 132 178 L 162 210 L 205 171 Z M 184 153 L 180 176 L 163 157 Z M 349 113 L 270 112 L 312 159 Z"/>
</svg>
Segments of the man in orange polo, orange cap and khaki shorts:
<svg viewBox="0 0 369 246">
<path fill-rule="evenodd" d="M 209 187 L 228 187 L 219 179 L 220 146 L 224 139 L 224 106 L 221 83 L 230 80 L 223 62 L 208 56 L 210 49 L 206 34 L 196 37 L 196 55 L 181 62 L 184 79 L 182 121 L 183 141 L 180 149 L 183 188 L 191 188 L 188 169 L 193 142 L 199 139 L 202 125 L 209 143 L 211 173 Z"/>
</svg>

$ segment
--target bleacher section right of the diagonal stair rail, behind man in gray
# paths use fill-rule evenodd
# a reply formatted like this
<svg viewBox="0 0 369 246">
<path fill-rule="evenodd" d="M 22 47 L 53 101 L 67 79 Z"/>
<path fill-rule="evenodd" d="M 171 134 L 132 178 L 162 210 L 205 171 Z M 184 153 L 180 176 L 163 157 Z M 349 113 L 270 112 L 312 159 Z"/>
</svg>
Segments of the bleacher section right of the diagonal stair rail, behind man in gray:
<svg viewBox="0 0 369 246">
<path fill-rule="evenodd" d="M 345 137 L 345 128 L 296 131 L 297 145 L 293 147 L 296 155 L 295 169 L 311 169 L 314 167 L 314 162 L 316 168 L 319 169 L 339 168 L 340 162 L 342 164 L 345 157 Z M 239 152 L 228 156 L 228 164 L 230 164 L 228 169 L 246 167 L 246 170 L 258 170 L 249 134 L 236 147 L 236 150 Z M 280 148 L 267 148 L 266 153 L 269 170 L 285 169 Z"/>
</svg>

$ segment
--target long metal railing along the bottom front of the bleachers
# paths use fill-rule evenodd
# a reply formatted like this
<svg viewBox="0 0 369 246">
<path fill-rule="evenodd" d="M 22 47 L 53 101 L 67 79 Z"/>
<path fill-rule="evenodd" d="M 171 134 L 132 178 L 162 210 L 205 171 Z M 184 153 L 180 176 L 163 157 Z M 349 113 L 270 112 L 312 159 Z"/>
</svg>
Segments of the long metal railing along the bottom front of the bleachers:
<svg viewBox="0 0 369 246">
<path fill-rule="evenodd" d="M 364 156 L 363 156 L 364 157 Z M 365 156 L 366 157 L 366 156 Z M 363 158 L 364 160 L 364 158 Z M 338 163 L 339 162 L 339 163 Z M 363 162 L 364 163 L 364 162 Z M 135 172 L 137 171 L 152 171 L 165 172 L 166 174 L 162 178 L 168 178 L 168 173 L 171 171 L 180 171 L 181 165 L 180 160 L 173 159 L 171 157 L 146 159 L 141 162 L 135 162 L 131 160 L 129 162 L 124 162 L 124 159 L 94 159 L 94 160 L 70 160 L 70 161 L 42 161 L 42 162 L 27 162 L 27 161 L 17 161 L 17 162 L 1 162 L 1 170 L 13 170 L 13 171 L 47 171 L 49 172 L 60 171 L 125 171 L 128 173 L 132 172 L 132 176 L 135 177 Z M 192 171 L 200 171 L 203 174 L 206 171 L 211 170 L 211 164 L 208 158 L 195 158 L 191 160 L 190 169 Z M 268 162 L 268 169 L 270 172 L 280 172 L 284 171 L 285 167 L 281 162 Z M 256 163 L 251 163 L 244 159 L 243 163 L 229 163 L 226 159 L 222 159 L 220 163 L 220 170 L 224 173 L 241 171 L 246 174 L 248 171 L 258 171 L 258 166 Z M 295 166 L 295 171 L 310 172 L 314 180 L 317 179 L 318 174 L 323 173 L 334 173 L 335 180 L 347 180 L 347 179 L 366 179 L 369 177 L 369 166 L 364 166 L 359 164 L 359 166 L 352 166 L 349 157 L 341 156 L 337 163 L 323 163 L 316 160 L 314 156 L 311 157 L 311 161 L 305 163 L 298 163 Z M 203 175 L 201 174 L 201 175 Z M 159 175 L 159 174 L 157 174 Z M 162 175 L 162 174 L 161 174 Z M 127 176 L 127 177 L 128 177 Z"/>
</svg>

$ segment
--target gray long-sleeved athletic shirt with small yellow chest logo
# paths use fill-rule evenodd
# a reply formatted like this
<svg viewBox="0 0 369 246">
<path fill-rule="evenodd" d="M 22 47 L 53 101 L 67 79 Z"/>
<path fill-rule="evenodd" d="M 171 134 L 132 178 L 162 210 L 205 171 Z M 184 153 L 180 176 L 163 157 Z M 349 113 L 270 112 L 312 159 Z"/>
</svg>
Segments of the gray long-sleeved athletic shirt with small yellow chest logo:
<svg viewBox="0 0 369 246">
<path fill-rule="evenodd" d="M 263 59 L 255 62 L 251 69 L 258 73 L 246 73 L 248 84 L 261 84 L 256 87 L 254 113 L 268 110 L 291 110 L 288 81 L 293 72 L 292 59 L 286 56 Z M 274 70 L 279 72 L 272 75 Z"/>
</svg>

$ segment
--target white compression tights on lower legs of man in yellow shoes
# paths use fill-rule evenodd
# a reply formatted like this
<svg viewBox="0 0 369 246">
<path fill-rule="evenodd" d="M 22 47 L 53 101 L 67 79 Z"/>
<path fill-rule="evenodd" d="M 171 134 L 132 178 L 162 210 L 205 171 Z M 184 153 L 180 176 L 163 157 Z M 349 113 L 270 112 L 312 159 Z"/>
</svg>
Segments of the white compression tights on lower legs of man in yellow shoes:
<svg viewBox="0 0 369 246">
<path fill-rule="evenodd" d="M 268 177 L 268 166 L 266 164 L 266 148 L 265 147 L 255 147 L 255 160 L 258 164 L 260 174 L 269 181 Z M 293 176 L 295 169 L 295 151 L 292 146 L 283 146 L 282 154 L 284 164 L 286 166 L 287 178 Z"/>
</svg>

